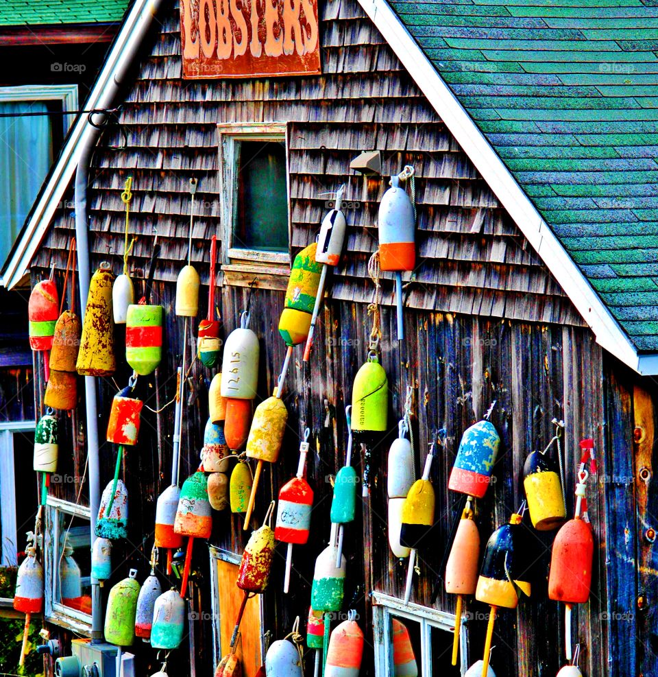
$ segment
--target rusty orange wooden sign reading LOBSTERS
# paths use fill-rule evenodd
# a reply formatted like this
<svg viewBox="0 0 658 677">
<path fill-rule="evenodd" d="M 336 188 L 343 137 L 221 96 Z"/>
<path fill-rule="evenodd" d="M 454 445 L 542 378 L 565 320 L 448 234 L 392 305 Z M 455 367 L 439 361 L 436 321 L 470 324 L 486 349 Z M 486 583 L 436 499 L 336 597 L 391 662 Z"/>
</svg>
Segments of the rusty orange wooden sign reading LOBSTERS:
<svg viewBox="0 0 658 677">
<path fill-rule="evenodd" d="M 180 0 L 184 78 L 321 73 L 317 0 Z"/>
</svg>

